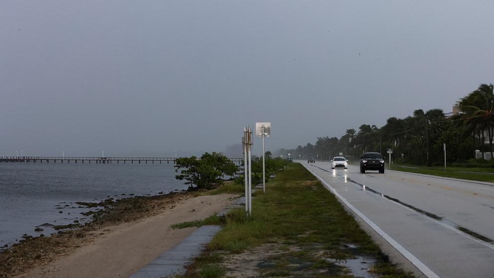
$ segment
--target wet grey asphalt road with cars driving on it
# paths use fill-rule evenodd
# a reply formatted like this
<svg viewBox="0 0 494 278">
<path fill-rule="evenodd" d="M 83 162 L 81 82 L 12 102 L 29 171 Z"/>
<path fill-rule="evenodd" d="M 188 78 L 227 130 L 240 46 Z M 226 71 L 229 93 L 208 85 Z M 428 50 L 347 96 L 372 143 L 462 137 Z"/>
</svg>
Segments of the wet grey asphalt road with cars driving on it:
<svg viewBox="0 0 494 278">
<path fill-rule="evenodd" d="M 300 162 L 437 276 L 494 277 L 494 183 Z"/>
</svg>

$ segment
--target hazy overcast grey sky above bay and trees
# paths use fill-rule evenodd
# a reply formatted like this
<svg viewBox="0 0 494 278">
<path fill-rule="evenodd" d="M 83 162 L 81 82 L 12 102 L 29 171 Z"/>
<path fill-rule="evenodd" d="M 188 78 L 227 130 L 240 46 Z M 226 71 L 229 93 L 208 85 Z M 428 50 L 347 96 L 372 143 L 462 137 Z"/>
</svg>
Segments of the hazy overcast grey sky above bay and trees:
<svg viewBox="0 0 494 278">
<path fill-rule="evenodd" d="M 494 82 L 494 1 L 0 1 L 0 155 L 267 149 Z M 260 154 L 256 141 L 256 154 Z"/>
</svg>

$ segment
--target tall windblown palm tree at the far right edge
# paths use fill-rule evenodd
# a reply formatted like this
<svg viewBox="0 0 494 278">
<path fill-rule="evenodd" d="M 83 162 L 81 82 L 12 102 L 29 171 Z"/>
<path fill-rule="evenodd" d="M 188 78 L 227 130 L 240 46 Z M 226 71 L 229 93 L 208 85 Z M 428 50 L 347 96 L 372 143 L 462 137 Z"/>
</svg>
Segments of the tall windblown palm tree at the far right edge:
<svg viewBox="0 0 494 278">
<path fill-rule="evenodd" d="M 489 151 L 493 160 L 494 85 L 481 84 L 479 89 L 458 101 L 457 106 L 463 112 L 460 119 L 464 120 L 464 125 L 484 132 L 488 131 Z"/>
</svg>

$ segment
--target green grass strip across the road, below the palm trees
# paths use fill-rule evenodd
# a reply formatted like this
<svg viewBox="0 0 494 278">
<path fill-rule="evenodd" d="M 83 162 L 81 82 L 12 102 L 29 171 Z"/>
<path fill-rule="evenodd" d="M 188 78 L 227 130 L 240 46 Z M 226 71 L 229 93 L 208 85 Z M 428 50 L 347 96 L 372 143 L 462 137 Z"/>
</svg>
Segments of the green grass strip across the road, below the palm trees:
<svg viewBox="0 0 494 278">
<path fill-rule="evenodd" d="M 494 182 L 494 171 L 492 168 L 446 167 L 445 170 L 444 167 L 439 166 L 425 167 L 422 165 L 393 164 L 391 166 L 391 170 L 441 177 Z"/>
</svg>

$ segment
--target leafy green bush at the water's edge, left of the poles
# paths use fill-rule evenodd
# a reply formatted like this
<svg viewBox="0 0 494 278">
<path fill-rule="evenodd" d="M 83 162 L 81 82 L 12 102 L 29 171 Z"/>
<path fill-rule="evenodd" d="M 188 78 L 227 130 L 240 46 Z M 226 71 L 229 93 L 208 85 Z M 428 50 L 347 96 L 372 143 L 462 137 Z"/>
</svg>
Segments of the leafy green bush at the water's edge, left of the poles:
<svg viewBox="0 0 494 278">
<path fill-rule="evenodd" d="M 214 183 L 221 182 L 218 180 L 220 177 L 234 175 L 239 169 L 228 157 L 219 152 L 206 152 L 199 159 L 196 156 L 177 158 L 175 167 L 177 168 L 175 172 L 184 168 L 175 178 L 187 180 L 185 184 L 189 184 L 189 190 L 209 188 Z"/>
</svg>

